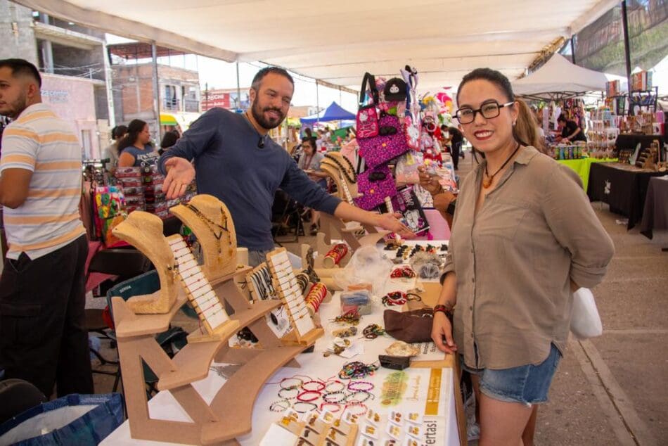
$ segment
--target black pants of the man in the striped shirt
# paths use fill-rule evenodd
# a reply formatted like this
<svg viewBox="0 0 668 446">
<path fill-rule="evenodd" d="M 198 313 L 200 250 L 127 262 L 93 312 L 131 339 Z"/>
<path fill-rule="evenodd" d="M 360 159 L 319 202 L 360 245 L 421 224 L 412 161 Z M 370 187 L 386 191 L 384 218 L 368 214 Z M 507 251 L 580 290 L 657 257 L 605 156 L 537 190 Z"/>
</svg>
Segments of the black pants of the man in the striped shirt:
<svg viewBox="0 0 668 446">
<path fill-rule="evenodd" d="M 93 393 L 84 305 L 88 241 L 35 260 L 7 259 L 0 278 L 0 368 L 46 397 Z"/>
</svg>

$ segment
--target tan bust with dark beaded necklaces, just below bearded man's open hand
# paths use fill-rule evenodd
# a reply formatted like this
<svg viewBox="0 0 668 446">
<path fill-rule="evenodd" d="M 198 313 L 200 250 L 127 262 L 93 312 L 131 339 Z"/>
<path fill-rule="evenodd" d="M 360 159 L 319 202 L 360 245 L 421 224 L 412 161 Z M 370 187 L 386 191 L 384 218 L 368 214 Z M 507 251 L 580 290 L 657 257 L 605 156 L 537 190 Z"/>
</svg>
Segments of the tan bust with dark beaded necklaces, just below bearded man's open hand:
<svg viewBox="0 0 668 446">
<path fill-rule="evenodd" d="M 213 226 L 210 222 L 207 223 L 188 205 L 194 206 L 210 222 L 226 227 L 227 231 Z M 204 257 L 202 270 L 205 276 L 209 281 L 214 281 L 221 276 L 233 273 L 237 265 L 236 233 L 229 209 L 221 200 L 207 194 L 193 197 L 188 205 L 176 205 L 170 208 L 169 212 L 192 229 L 200 242 Z M 219 239 L 215 235 L 217 232 L 220 234 Z"/>
</svg>

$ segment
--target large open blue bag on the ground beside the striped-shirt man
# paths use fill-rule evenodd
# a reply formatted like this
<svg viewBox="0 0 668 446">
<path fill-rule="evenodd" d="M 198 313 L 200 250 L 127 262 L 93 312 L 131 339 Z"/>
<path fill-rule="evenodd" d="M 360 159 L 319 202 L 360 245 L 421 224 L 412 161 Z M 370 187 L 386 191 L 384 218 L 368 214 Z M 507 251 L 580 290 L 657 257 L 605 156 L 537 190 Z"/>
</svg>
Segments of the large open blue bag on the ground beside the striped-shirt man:
<svg viewBox="0 0 668 446">
<path fill-rule="evenodd" d="M 0 445 L 97 445 L 123 422 L 120 393 L 68 395 L 0 426 Z"/>
</svg>

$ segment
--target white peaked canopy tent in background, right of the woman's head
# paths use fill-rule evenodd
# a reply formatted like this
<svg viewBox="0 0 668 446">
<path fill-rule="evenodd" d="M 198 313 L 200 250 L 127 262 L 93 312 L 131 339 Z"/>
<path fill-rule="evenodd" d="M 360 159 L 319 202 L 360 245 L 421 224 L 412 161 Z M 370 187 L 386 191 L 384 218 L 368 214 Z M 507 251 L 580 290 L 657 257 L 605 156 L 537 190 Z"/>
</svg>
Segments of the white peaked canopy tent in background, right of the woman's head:
<svg viewBox="0 0 668 446">
<path fill-rule="evenodd" d="M 531 75 L 513 82 L 513 91 L 527 98 L 570 98 L 586 91 L 604 91 L 607 81 L 602 72 L 573 65 L 564 56 L 554 54 Z"/>
</svg>

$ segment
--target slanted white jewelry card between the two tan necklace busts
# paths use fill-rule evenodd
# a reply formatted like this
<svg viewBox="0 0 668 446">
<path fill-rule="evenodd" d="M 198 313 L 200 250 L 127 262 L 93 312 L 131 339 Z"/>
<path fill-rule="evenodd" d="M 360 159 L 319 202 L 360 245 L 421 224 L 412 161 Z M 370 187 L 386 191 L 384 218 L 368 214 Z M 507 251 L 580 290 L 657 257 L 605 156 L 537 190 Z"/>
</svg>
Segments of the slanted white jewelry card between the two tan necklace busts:
<svg viewBox="0 0 668 446">
<path fill-rule="evenodd" d="M 176 273 L 188 295 L 188 300 L 191 301 L 200 320 L 206 322 L 214 331 L 229 321 L 227 312 L 183 238 L 176 235 L 169 237 L 168 241 L 174 253 Z"/>
</svg>

